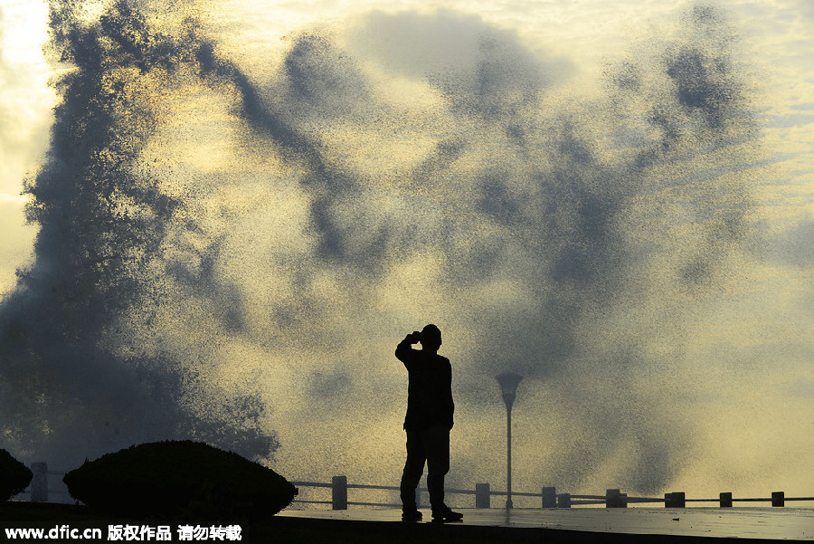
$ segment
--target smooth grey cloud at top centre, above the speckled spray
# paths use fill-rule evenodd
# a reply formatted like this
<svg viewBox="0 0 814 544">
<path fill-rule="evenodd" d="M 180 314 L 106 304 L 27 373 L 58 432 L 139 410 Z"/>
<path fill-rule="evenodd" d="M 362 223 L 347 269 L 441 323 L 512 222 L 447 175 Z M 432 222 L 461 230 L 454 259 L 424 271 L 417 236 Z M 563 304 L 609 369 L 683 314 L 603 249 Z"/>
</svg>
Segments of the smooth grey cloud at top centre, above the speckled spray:
<svg viewBox="0 0 814 544">
<path fill-rule="evenodd" d="M 445 10 L 368 14 L 350 43 L 388 69 L 430 81 L 454 110 L 487 119 L 518 112 L 573 72 L 569 60 L 535 54 L 511 31 Z"/>
</svg>

